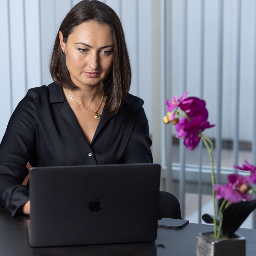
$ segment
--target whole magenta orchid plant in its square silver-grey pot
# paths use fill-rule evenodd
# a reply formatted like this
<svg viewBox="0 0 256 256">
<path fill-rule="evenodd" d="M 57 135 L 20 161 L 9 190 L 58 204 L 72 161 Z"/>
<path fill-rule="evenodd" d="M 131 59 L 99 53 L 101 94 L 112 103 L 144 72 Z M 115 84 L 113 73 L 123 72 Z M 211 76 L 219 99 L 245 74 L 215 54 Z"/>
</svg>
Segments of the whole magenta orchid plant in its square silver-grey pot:
<svg viewBox="0 0 256 256">
<path fill-rule="evenodd" d="M 220 199 L 219 213 L 216 216 L 216 202 L 213 200 L 213 216 L 204 214 L 203 220 L 214 224 L 213 232 L 197 235 L 197 256 L 201 255 L 245 255 L 245 238 L 235 234 L 248 215 L 256 208 L 256 200 L 252 193 L 256 188 L 256 167 L 245 161 L 242 167 L 234 166 L 242 171 L 249 171 L 249 175 L 230 174 L 228 183 L 215 184 L 214 164 L 212 157 L 213 143 L 203 134 L 210 125 L 207 121 L 208 111 L 206 102 L 197 97 L 186 98 L 185 92 L 180 98 L 175 96 L 172 101 L 166 100 L 167 111 L 163 118 L 165 124 L 172 122 L 177 131 L 176 137 L 183 139 L 183 144 L 194 150 L 202 139 L 211 162 L 212 196 Z"/>
</svg>

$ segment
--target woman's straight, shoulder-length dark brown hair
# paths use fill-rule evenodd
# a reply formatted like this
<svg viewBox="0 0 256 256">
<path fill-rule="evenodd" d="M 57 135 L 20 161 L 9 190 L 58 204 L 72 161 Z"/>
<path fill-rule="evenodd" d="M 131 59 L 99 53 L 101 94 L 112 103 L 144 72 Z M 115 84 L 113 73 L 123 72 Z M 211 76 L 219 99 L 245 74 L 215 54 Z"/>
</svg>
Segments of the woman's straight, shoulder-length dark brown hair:
<svg viewBox="0 0 256 256">
<path fill-rule="evenodd" d="M 125 43 L 124 31 L 117 14 L 108 5 L 97 0 L 83 0 L 75 5 L 62 21 L 59 31 L 63 42 L 75 27 L 89 20 L 108 25 L 113 33 L 114 56 L 113 66 L 108 76 L 102 81 L 107 96 L 108 116 L 117 114 L 119 107 L 126 101 L 131 85 L 131 66 Z M 58 34 L 59 34 L 58 31 Z M 56 84 L 66 89 L 77 88 L 70 79 L 65 55 L 61 53 L 60 39 L 57 34 L 52 50 L 50 72 Z"/>
</svg>

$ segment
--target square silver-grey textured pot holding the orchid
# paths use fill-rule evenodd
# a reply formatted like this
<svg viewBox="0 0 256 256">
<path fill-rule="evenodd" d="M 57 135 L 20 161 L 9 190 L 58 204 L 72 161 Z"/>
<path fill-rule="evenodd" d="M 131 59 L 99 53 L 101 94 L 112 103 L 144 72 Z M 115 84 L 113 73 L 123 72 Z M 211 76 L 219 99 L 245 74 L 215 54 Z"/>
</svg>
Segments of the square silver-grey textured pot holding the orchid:
<svg viewBox="0 0 256 256">
<path fill-rule="evenodd" d="M 245 237 L 234 234 L 217 239 L 213 232 L 197 234 L 196 256 L 245 256 Z"/>
</svg>

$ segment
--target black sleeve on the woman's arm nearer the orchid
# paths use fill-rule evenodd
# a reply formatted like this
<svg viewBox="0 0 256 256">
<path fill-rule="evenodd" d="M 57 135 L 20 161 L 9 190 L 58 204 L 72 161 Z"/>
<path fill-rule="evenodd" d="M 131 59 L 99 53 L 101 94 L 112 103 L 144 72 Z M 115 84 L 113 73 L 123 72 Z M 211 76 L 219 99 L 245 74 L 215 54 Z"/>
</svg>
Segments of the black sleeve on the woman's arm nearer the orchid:
<svg viewBox="0 0 256 256">
<path fill-rule="evenodd" d="M 148 120 L 143 107 L 140 108 L 136 123 L 124 153 L 124 164 L 152 163 Z"/>
</svg>

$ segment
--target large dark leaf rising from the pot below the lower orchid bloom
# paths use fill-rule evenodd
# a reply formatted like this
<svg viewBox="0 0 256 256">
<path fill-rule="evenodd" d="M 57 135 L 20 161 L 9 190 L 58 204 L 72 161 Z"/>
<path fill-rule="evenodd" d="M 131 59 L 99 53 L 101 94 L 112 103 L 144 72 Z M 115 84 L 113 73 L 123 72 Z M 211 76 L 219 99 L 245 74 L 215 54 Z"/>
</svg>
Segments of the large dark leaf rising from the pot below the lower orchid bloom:
<svg viewBox="0 0 256 256">
<path fill-rule="evenodd" d="M 229 238 L 242 225 L 249 214 L 256 208 L 256 200 L 230 205 L 223 212 L 222 233 Z"/>
</svg>

